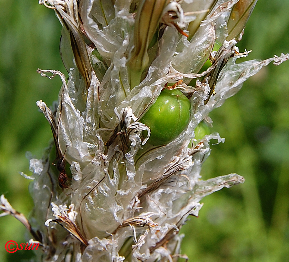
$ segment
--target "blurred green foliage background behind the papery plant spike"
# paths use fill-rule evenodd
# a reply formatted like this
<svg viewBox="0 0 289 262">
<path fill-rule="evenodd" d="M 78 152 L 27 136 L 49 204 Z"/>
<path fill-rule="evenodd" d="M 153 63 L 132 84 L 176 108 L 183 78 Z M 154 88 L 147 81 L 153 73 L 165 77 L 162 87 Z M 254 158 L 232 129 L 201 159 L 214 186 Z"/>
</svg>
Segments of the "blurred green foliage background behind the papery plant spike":
<svg viewBox="0 0 289 262">
<path fill-rule="evenodd" d="M 27 217 L 32 209 L 27 151 L 40 158 L 52 138 L 36 107 L 51 105 L 61 81 L 41 78 L 36 69 L 65 72 L 59 55 L 60 23 L 36 0 L 0 0 L 0 193 Z M 289 52 L 289 1 L 258 1 L 240 51 L 246 59 Z M 182 228 L 190 261 L 289 261 L 289 62 L 269 65 L 241 91 L 213 111 L 212 131 L 225 137 L 212 146 L 204 179 L 238 173 L 243 185 L 203 200 L 199 217 Z M 26 237 L 29 237 L 26 234 Z M 25 243 L 25 228 L 13 217 L 0 218 L 0 261 L 29 260 L 31 251 L 10 254 L 5 243 Z"/>
</svg>

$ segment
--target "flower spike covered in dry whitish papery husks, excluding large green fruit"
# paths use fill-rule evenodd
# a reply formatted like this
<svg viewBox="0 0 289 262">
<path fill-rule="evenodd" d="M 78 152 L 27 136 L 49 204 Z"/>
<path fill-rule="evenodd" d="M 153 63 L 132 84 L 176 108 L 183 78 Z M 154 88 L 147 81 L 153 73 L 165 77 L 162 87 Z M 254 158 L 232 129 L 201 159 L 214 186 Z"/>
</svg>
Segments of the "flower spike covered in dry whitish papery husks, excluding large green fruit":
<svg viewBox="0 0 289 262">
<path fill-rule="evenodd" d="M 225 139 L 213 133 L 197 140 L 194 129 L 263 66 L 289 58 L 236 63 L 249 53 L 236 44 L 256 2 L 39 1 L 62 24 L 69 78 L 38 69 L 63 85 L 56 107 L 37 102 L 54 140 L 41 160 L 30 160 L 33 174 L 22 174 L 33 179 L 25 223 L 42 246 L 37 261 L 185 258 L 178 232 L 198 216 L 201 199 L 244 182 L 237 174 L 201 180 L 210 140 Z M 212 66 L 202 69 L 208 59 Z M 140 120 L 163 88 L 189 98 L 190 120 L 173 141 L 153 146 Z M 16 214 L 4 196 L 1 209 Z"/>
</svg>

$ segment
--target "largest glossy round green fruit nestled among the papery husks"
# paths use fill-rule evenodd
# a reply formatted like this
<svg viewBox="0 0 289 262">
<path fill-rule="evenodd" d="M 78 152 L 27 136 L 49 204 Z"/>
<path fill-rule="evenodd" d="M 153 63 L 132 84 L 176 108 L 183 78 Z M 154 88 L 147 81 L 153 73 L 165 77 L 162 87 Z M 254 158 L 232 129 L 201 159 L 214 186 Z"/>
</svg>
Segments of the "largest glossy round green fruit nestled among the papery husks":
<svg viewBox="0 0 289 262">
<path fill-rule="evenodd" d="M 190 101 L 181 91 L 164 89 L 140 119 L 151 130 L 148 142 L 163 145 L 174 140 L 190 120 L 190 107 Z"/>
</svg>

